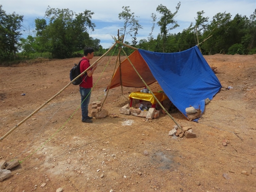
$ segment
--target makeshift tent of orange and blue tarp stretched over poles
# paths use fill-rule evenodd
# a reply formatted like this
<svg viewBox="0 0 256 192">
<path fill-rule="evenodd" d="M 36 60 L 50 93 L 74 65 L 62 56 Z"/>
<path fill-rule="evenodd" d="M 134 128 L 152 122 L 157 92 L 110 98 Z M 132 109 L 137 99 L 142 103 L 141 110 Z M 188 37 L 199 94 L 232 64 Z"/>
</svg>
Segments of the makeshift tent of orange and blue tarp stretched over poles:
<svg viewBox="0 0 256 192">
<path fill-rule="evenodd" d="M 156 53 L 137 49 L 129 57 L 142 79 L 151 85 L 158 81 L 170 101 L 183 113 L 193 106 L 203 113 L 205 99 L 213 99 L 221 84 L 197 46 L 178 53 Z M 115 72 L 109 89 L 144 87 L 127 58 Z"/>
</svg>

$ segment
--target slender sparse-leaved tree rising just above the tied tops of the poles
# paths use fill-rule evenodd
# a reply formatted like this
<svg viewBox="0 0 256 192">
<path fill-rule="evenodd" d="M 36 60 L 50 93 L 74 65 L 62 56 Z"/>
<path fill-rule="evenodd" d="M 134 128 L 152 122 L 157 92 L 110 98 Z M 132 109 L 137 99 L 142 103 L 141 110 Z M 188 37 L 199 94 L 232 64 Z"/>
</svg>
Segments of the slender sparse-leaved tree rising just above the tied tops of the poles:
<svg viewBox="0 0 256 192">
<path fill-rule="evenodd" d="M 123 31 L 122 35 L 125 35 L 125 39 L 128 34 L 132 37 L 132 32 L 134 32 L 133 44 L 137 44 L 136 35 L 138 34 L 138 30 L 142 29 L 142 26 L 139 24 L 139 21 L 135 18 L 134 13 L 131 13 L 130 6 L 123 6 L 124 9 L 121 13 L 118 14 L 119 19 L 124 20 L 124 28 L 121 28 L 120 31 Z"/>
</svg>

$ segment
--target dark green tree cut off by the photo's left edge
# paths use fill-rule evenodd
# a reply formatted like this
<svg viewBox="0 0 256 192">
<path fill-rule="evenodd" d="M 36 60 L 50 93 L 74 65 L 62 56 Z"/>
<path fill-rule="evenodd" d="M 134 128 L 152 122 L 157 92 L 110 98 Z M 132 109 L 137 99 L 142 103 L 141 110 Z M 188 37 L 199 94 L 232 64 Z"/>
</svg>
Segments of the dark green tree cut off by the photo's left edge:
<svg viewBox="0 0 256 192">
<path fill-rule="evenodd" d="M 0 5 L 0 60 L 14 60 L 20 49 L 23 15 L 15 12 L 8 15 Z"/>
</svg>

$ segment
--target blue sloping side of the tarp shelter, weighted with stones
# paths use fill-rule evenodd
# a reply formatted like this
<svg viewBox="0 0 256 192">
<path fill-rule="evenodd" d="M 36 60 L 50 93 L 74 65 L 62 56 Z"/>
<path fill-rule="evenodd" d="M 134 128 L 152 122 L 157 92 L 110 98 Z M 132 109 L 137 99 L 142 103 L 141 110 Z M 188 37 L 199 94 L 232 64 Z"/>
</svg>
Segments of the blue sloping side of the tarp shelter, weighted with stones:
<svg viewBox="0 0 256 192">
<path fill-rule="evenodd" d="M 165 94 L 185 116 L 190 105 L 203 112 L 205 99 L 212 100 L 221 88 L 197 46 L 178 53 L 138 51 Z"/>
</svg>

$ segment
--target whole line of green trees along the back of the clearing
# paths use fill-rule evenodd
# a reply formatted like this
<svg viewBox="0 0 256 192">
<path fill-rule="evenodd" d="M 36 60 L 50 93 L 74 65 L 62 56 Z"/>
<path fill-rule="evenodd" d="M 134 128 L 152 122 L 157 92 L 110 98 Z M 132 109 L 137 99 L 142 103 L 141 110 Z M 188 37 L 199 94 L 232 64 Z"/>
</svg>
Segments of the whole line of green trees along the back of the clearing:
<svg viewBox="0 0 256 192">
<path fill-rule="evenodd" d="M 256 53 L 256 9 L 250 18 L 236 14 L 233 19 L 230 13 L 217 13 L 213 18 L 204 17 L 203 10 L 197 12 L 195 21 L 182 32 L 172 34 L 179 23 L 175 20 L 181 7 L 179 2 L 172 13 L 169 8 L 160 4 L 156 13 L 151 14 L 152 28 L 147 39 L 137 40 L 143 26 L 129 6 L 122 6 L 118 17 L 124 21 L 120 29 L 125 35 L 124 43 L 134 47 L 156 52 L 179 52 L 195 45 L 203 54 L 255 54 Z M 92 23 L 90 10 L 75 13 L 70 9 L 50 8 L 45 11 L 44 18 L 34 20 L 36 31 L 26 38 L 21 38 L 23 15 L 15 12 L 6 14 L 0 5 L 0 60 L 11 61 L 21 52 L 29 58 L 30 54 L 49 53 L 53 58 L 70 58 L 78 56 L 85 46 L 93 47 L 100 55 L 103 49 L 99 39 L 93 39 L 89 31 L 94 31 L 96 24 Z M 159 26 L 159 33 L 153 37 Z M 131 42 L 125 41 L 131 36 Z M 127 53 L 130 53 L 129 51 Z"/>
</svg>

